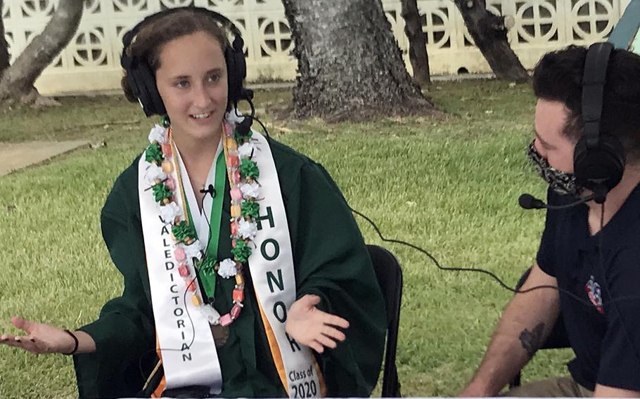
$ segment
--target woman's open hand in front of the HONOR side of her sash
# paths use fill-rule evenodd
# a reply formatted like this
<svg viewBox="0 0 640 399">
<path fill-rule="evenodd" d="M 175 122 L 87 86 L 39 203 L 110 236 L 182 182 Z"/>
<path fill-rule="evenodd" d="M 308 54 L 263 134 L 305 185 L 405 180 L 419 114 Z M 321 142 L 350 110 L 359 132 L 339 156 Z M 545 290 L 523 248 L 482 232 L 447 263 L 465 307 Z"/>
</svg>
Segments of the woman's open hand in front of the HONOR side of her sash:
<svg viewBox="0 0 640 399">
<path fill-rule="evenodd" d="M 338 341 L 345 340 L 345 333 L 337 327 L 345 329 L 349 322 L 319 310 L 316 308 L 318 303 L 320 297 L 317 295 L 305 295 L 295 301 L 287 312 L 286 332 L 298 344 L 323 353 L 325 346 L 333 349 Z"/>
</svg>

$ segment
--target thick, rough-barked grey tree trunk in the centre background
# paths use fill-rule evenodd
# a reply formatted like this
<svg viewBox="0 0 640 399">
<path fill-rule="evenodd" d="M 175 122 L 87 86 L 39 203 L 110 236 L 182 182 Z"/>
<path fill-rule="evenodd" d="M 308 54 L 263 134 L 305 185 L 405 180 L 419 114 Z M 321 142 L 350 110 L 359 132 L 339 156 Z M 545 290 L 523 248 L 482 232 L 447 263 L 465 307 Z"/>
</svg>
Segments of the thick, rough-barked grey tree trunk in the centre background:
<svg viewBox="0 0 640 399">
<path fill-rule="evenodd" d="M 295 41 L 297 117 L 332 122 L 433 113 L 411 81 L 380 0 L 283 0 Z"/>
</svg>

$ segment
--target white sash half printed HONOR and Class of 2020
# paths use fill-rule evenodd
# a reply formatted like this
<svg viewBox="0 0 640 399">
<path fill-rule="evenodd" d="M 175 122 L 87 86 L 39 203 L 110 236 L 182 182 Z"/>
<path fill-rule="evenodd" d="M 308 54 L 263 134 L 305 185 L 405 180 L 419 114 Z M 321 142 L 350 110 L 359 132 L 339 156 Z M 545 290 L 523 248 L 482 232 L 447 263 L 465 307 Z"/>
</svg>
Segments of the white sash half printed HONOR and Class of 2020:
<svg viewBox="0 0 640 399">
<path fill-rule="evenodd" d="M 276 368 L 290 398 L 321 396 L 321 378 L 307 346 L 297 344 L 286 332 L 287 310 L 295 301 L 293 250 L 282 202 L 280 181 L 269 143 L 254 132 L 258 150 L 253 160 L 260 169 L 260 216 L 255 249 L 249 257 L 253 289 L 260 303 Z M 267 320 L 264 320 L 267 318 Z M 276 342 L 272 342 L 275 338 Z M 277 346 L 274 348 L 274 346 Z"/>
</svg>

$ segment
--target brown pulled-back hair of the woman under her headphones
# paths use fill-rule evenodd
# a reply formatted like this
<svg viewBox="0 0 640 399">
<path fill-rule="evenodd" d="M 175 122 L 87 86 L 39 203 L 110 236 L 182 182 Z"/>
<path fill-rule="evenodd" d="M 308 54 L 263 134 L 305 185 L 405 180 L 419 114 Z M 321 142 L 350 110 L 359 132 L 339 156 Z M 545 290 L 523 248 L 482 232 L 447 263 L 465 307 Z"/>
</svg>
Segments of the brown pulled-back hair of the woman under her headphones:
<svg viewBox="0 0 640 399">
<path fill-rule="evenodd" d="M 229 44 L 227 32 L 217 20 L 200 11 L 180 9 L 148 22 L 136 34 L 129 48 L 124 48 L 122 51 L 127 51 L 129 56 L 146 60 L 151 70 L 155 72 L 160 67 L 160 52 L 165 44 L 196 32 L 210 34 L 220 44 L 222 51 Z M 126 72 L 120 81 L 120 86 L 122 86 L 127 100 L 132 103 L 138 102 L 131 86 L 129 86 Z"/>
</svg>

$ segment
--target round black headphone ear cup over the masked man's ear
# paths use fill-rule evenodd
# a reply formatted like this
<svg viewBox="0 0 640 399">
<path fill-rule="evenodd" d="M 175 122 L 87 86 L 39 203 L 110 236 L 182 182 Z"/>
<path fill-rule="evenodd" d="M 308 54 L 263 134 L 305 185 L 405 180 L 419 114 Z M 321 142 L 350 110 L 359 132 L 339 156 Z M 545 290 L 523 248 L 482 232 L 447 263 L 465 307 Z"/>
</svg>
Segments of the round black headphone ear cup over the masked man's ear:
<svg viewBox="0 0 640 399">
<path fill-rule="evenodd" d="M 588 148 L 587 138 L 582 136 L 573 152 L 573 171 L 578 184 L 594 190 L 603 184 L 607 191 L 620 183 L 625 171 L 625 152 L 617 138 L 608 134 L 599 136 L 599 144 Z"/>
</svg>

